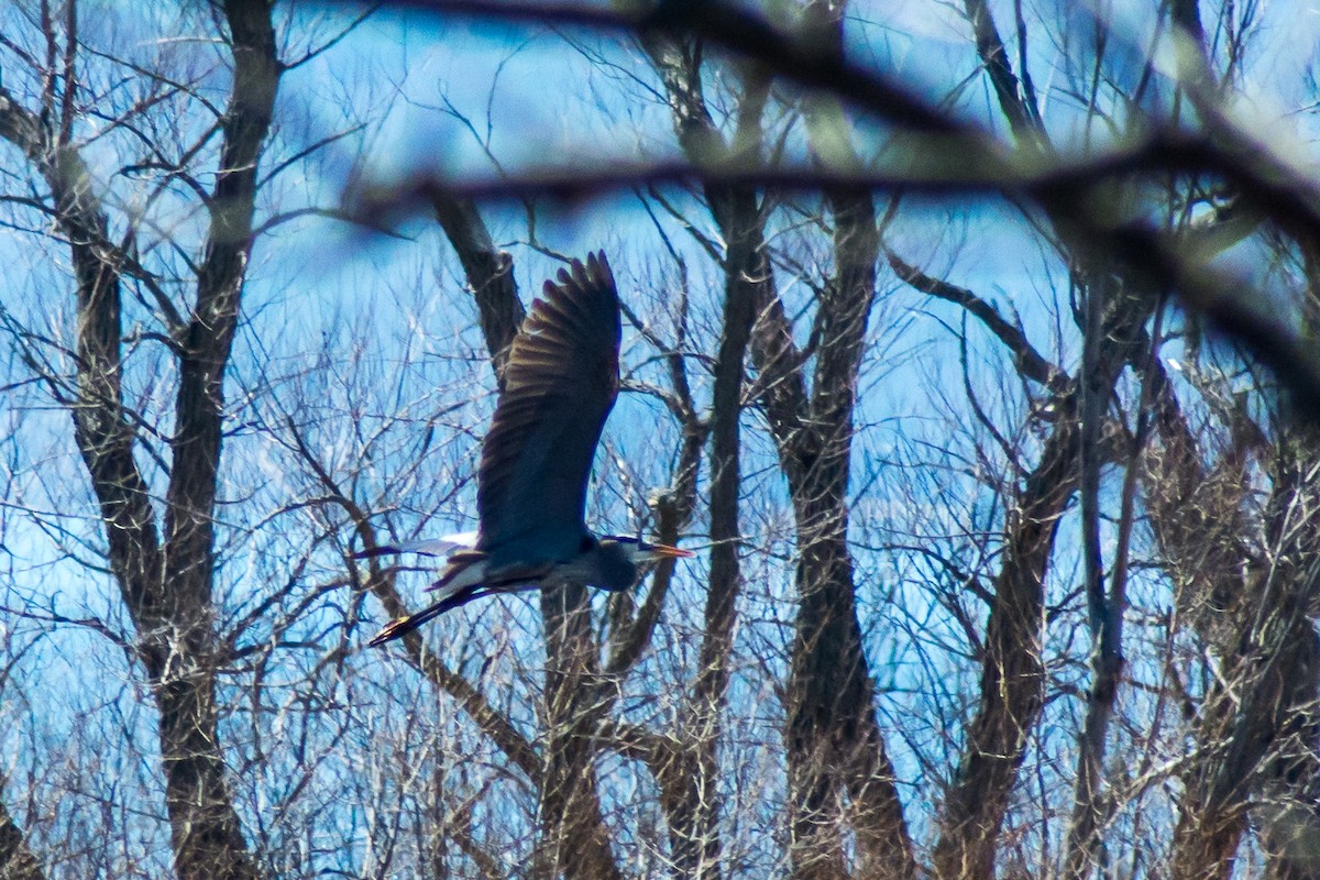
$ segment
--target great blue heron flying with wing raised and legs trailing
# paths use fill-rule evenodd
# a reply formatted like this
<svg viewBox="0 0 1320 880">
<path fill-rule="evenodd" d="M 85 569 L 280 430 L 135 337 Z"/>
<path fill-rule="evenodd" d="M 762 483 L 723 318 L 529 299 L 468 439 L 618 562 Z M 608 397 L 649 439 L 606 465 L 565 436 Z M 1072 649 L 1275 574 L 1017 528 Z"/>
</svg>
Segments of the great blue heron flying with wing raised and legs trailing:
<svg viewBox="0 0 1320 880">
<path fill-rule="evenodd" d="M 447 554 L 436 600 L 380 631 L 399 639 L 474 599 L 579 583 L 631 588 L 643 567 L 693 554 L 586 528 L 586 486 L 605 421 L 619 393 L 619 293 L 603 252 L 573 260 L 546 281 L 510 348 L 504 388 L 482 443 L 475 534 L 380 546 L 359 558 Z"/>
</svg>

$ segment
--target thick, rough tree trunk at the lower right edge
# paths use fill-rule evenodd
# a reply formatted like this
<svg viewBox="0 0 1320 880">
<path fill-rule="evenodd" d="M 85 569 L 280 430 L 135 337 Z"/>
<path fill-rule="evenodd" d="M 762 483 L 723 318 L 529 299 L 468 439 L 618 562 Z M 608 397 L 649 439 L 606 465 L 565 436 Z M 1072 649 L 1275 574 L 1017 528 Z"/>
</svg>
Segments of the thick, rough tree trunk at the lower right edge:
<svg viewBox="0 0 1320 880">
<path fill-rule="evenodd" d="M 1308 604 L 1316 595 L 1316 449 L 1311 430 L 1286 429 L 1275 445 L 1246 412 L 1212 466 L 1156 361 L 1159 447 L 1147 456 L 1144 496 L 1181 617 L 1214 652 L 1221 673 L 1196 720 L 1205 745 L 1183 773 L 1173 836 L 1180 880 L 1228 877 L 1253 798 L 1271 851 L 1271 876 L 1309 877 L 1320 854 L 1313 809 L 1320 645 Z M 1271 455 L 1266 521 L 1243 513 L 1253 456 Z M 1269 459 L 1266 459 L 1269 460 Z M 1265 542 L 1246 538 L 1262 534 Z"/>
</svg>

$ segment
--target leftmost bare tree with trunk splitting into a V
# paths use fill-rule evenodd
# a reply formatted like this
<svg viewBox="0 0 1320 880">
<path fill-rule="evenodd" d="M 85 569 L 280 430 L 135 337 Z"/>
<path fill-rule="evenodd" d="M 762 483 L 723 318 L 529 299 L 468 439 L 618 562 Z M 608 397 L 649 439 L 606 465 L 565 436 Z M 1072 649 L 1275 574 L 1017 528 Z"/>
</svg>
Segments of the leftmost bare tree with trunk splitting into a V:
<svg viewBox="0 0 1320 880">
<path fill-rule="evenodd" d="M 216 735 L 215 677 L 223 661 L 211 594 L 224 372 L 252 243 L 257 162 L 280 78 L 271 11 L 261 3 L 222 9 L 232 86 L 228 106 L 214 120 L 220 146 L 214 186 L 205 191 L 210 230 L 185 310 L 139 263 L 132 226 L 120 240 L 111 236 L 108 208 L 78 140 L 84 112 L 78 7 L 65 4 L 58 21 L 53 12 L 42 4 L 41 37 L 48 61 L 59 63 L 32 71 L 42 82 L 32 96 L 36 106 L 0 92 L 0 136 L 44 182 L 46 193 L 36 207 L 69 248 L 77 303 L 73 376 L 48 367 L 32 334 L 15 327 L 12 338 L 73 417 L 104 524 L 108 563 L 137 633 L 135 658 L 160 712 L 174 868 L 181 877 L 255 877 Z M 169 91 L 165 83 L 156 86 Z M 148 102 L 158 96 L 165 94 Z M 123 123 L 132 125 L 132 113 Z M 125 278 L 156 297 L 160 344 L 178 368 L 169 484 L 160 507 L 135 458 L 141 427 L 121 384 Z"/>
</svg>

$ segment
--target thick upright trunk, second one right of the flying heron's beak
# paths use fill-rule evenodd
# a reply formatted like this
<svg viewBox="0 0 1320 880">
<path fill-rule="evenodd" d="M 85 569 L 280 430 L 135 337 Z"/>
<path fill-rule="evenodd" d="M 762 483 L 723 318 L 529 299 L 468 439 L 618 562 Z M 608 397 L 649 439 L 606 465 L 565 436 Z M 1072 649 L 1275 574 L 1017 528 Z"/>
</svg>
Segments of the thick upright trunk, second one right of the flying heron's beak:
<svg viewBox="0 0 1320 880">
<path fill-rule="evenodd" d="M 804 11 L 807 36 L 840 61 L 845 11 L 845 3 L 834 1 L 816 1 Z M 861 166 L 837 103 L 813 99 L 807 123 L 817 164 L 841 170 Z M 783 329 L 760 336 L 775 344 L 759 350 L 758 358 L 779 368 L 771 372 L 771 384 L 791 394 L 775 404 L 780 417 L 772 425 L 793 499 L 801 600 L 788 683 L 792 858 L 803 877 L 846 871 L 841 834 L 850 827 L 859 876 L 913 877 L 912 840 L 875 722 L 875 689 L 847 548 L 853 412 L 876 293 L 880 234 L 869 193 L 830 190 L 825 198 L 834 223 L 836 274 L 826 281 L 818 306 L 816 323 L 826 344 L 816 358 L 810 398 L 804 400 L 800 377 L 793 381 L 781 375 L 791 363 L 784 360 L 789 350 Z M 774 319 L 780 313 L 768 309 L 764 314 Z M 804 408 L 805 418 L 792 417 Z M 845 794 L 850 801 L 846 817 L 832 809 Z"/>
</svg>

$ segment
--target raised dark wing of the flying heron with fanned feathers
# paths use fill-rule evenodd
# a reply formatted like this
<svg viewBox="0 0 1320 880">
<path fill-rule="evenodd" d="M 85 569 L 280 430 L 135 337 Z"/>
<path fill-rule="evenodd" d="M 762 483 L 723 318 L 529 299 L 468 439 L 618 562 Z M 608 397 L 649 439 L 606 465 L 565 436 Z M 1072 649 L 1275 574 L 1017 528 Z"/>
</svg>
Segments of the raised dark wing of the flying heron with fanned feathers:
<svg viewBox="0 0 1320 880">
<path fill-rule="evenodd" d="M 586 536 L 591 459 L 619 393 L 619 294 L 605 255 L 545 282 L 513 340 L 482 446 L 479 550 L 568 559 Z"/>
</svg>

